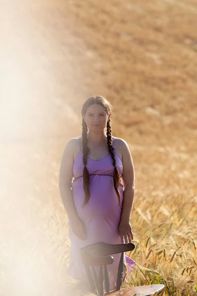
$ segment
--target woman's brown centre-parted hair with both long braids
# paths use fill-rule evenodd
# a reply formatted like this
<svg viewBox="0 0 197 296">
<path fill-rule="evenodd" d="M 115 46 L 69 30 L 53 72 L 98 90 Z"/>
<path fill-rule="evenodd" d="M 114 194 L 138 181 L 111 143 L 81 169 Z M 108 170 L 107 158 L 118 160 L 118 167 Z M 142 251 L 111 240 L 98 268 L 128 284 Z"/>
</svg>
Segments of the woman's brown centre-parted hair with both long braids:
<svg viewBox="0 0 197 296">
<path fill-rule="evenodd" d="M 86 114 L 86 111 L 88 109 L 88 107 L 90 107 L 93 104 L 98 104 L 101 105 L 104 110 L 107 112 L 107 114 L 110 114 L 112 106 L 111 104 L 104 98 L 101 96 L 93 96 L 91 98 L 89 98 L 88 100 L 86 100 L 86 102 L 83 105 L 81 114 L 82 116 Z M 84 188 L 84 193 L 85 193 L 85 199 L 83 202 L 83 206 L 85 206 L 89 199 L 90 199 L 90 192 L 89 192 L 89 181 L 90 181 L 90 176 L 89 176 L 89 172 L 87 170 L 87 157 L 88 157 L 88 153 L 90 152 L 89 148 L 87 147 L 87 132 L 88 132 L 88 128 L 87 128 L 87 124 L 85 122 L 85 120 L 83 119 L 82 121 L 82 147 L 83 147 L 83 164 L 84 164 L 84 169 L 83 169 L 83 188 Z M 116 194 L 118 196 L 119 199 L 119 203 L 120 203 L 120 191 L 119 191 L 119 181 L 120 181 L 120 174 L 119 171 L 116 167 L 116 159 L 115 159 L 115 154 L 114 154 L 114 148 L 112 146 L 112 140 L 111 140 L 111 125 L 110 125 L 110 119 L 107 121 L 107 146 L 109 149 L 109 153 L 111 154 L 111 158 L 113 160 L 113 166 L 114 166 L 114 175 L 113 175 L 113 181 L 114 181 L 114 189 L 116 191 Z"/>
</svg>

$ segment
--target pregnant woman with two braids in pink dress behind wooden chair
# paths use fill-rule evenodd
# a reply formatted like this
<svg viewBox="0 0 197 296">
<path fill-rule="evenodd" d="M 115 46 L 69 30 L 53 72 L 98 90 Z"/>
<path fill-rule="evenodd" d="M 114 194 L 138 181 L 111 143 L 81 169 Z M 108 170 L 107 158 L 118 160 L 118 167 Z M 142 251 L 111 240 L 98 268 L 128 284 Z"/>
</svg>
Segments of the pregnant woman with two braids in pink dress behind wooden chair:
<svg viewBox="0 0 197 296">
<path fill-rule="evenodd" d="M 59 188 L 71 242 L 69 274 L 86 287 L 79 250 L 97 242 L 127 244 L 133 240 L 133 162 L 127 143 L 111 135 L 111 114 L 111 104 L 104 97 L 93 96 L 84 103 L 82 137 L 67 142 L 60 166 Z M 108 265 L 111 288 L 120 254 L 113 257 Z M 134 261 L 127 256 L 124 260 L 131 271 Z"/>
</svg>

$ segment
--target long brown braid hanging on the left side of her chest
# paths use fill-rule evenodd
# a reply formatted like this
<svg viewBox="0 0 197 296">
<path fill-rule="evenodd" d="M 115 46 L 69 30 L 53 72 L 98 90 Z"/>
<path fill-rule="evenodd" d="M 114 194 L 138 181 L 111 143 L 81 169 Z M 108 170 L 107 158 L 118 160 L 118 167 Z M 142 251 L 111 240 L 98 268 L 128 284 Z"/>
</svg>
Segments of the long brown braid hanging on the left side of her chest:
<svg viewBox="0 0 197 296">
<path fill-rule="evenodd" d="M 83 147 L 83 165 L 84 165 L 84 169 L 83 169 L 83 188 L 84 188 L 84 193 L 85 193 L 85 199 L 83 202 L 83 207 L 87 204 L 87 202 L 90 199 L 90 192 L 89 192 L 89 181 L 90 181 L 90 175 L 88 172 L 88 169 L 86 167 L 87 165 L 87 157 L 88 157 L 88 153 L 89 153 L 89 148 L 87 147 L 87 132 L 88 132 L 88 128 L 87 128 L 87 124 L 85 122 L 85 120 L 83 119 L 82 121 L 82 147 Z"/>
</svg>

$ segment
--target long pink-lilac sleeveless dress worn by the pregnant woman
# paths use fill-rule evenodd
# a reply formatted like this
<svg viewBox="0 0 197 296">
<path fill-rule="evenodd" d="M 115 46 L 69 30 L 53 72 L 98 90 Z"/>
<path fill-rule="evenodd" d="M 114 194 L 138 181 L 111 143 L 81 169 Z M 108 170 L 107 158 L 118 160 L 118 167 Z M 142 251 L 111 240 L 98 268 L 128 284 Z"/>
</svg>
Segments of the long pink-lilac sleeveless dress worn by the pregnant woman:
<svg viewBox="0 0 197 296">
<path fill-rule="evenodd" d="M 113 137 L 113 146 L 115 137 Z M 119 184 L 121 195 L 120 205 L 118 196 L 114 189 L 113 174 L 114 166 L 111 155 L 108 154 L 100 160 L 94 160 L 90 157 L 87 158 L 87 169 L 90 175 L 90 199 L 86 206 L 82 208 L 84 202 L 83 190 L 83 152 L 81 151 L 81 142 L 79 139 L 80 150 L 77 153 L 73 164 L 73 177 L 74 181 L 71 184 L 72 196 L 74 205 L 79 218 L 84 222 L 86 227 L 86 240 L 80 240 L 72 232 L 69 224 L 70 234 L 70 264 L 69 274 L 75 279 L 82 279 L 87 282 L 85 268 L 79 256 L 79 249 L 84 246 L 94 244 L 97 242 L 104 242 L 109 244 L 121 244 L 121 237 L 118 232 L 118 226 L 121 218 L 122 204 L 123 204 L 123 185 Z M 116 167 L 120 175 L 123 173 L 122 160 L 115 152 Z M 69 221 L 68 221 L 69 223 Z M 110 273 L 110 287 L 113 288 L 117 276 L 117 268 L 121 254 L 115 254 L 114 262 L 107 266 Z M 125 262 L 128 269 L 131 271 L 134 266 L 134 261 L 125 256 Z M 88 287 L 88 284 L 87 284 Z"/>
</svg>

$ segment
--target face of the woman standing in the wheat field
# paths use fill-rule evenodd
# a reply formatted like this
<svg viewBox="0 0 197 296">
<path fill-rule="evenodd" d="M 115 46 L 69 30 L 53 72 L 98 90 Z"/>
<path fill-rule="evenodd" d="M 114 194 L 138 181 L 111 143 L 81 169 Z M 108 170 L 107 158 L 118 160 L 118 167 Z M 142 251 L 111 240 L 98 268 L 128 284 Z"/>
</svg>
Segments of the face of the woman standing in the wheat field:
<svg viewBox="0 0 197 296">
<path fill-rule="evenodd" d="M 110 115 L 111 113 L 108 115 L 101 105 L 94 104 L 88 107 L 85 116 L 83 115 L 83 118 L 90 131 L 99 132 L 105 129 Z"/>
</svg>

